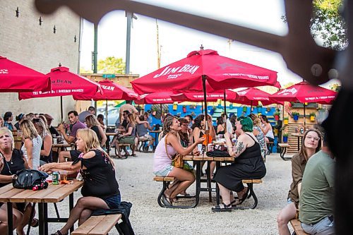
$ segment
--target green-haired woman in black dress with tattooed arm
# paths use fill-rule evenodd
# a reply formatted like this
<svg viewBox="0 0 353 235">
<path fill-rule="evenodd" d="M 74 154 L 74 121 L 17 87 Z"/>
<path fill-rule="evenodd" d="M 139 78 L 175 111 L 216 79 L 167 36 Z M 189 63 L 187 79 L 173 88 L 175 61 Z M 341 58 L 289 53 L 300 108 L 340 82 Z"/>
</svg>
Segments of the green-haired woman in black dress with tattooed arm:
<svg viewBox="0 0 353 235">
<path fill-rule="evenodd" d="M 229 133 L 225 133 L 229 155 L 235 157 L 234 162 L 221 167 L 215 174 L 215 181 L 220 188 L 222 203 L 212 207 L 215 212 L 231 211 L 234 200 L 232 191 L 237 192 L 237 205 L 246 200 L 249 188 L 244 187 L 242 179 L 261 179 L 266 174 L 266 167 L 261 157 L 258 140 L 253 135 L 253 121 L 249 117 L 241 116 L 236 125 L 237 143 L 232 145 Z"/>
</svg>

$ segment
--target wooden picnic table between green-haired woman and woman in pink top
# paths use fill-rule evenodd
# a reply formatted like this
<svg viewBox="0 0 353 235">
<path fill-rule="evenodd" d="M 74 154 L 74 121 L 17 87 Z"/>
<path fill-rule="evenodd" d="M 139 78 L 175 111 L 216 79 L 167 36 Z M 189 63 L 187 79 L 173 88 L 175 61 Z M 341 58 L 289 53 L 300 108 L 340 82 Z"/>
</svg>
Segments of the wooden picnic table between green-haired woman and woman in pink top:
<svg viewBox="0 0 353 235">
<path fill-rule="evenodd" d="M 195 204 L 193 205 L 193 207 L 196 207 L 198 205 L 198 201 L 200 199 L 200 193 L 201 191 L 208 191 L 208 198 L 210 203 L 212 203 L 212 192 L 213 189 L 211 187 L 211 183 L 213 181 L 213 179 L 211 179 L 210 174 L 206 174 L 207 178 L 206 180 L 202 180 L 201 179 L 201 173 L 202 173 L 202 169 L 201 169 L 201 162 L 206 161 L 208 163 L 208 169 L 207 171 L 209 171 L 210 169 L 210 162 L 216 162 L 216 169 L 220 167 L 220 164 L 222 162 L 234 162 L 234 157 L 207 157 L 206 155 L 200 155 L 200 156 L 193 156 L 193 155 L 186 155 L 183 157 L 184 161 L 193 161 L 196 163 L 196 194 L 195 194 Z M 206 188 L 202 188 L 201 187 L 201 181 L 206 183 Z M 220 189 L 217 187 L 215 187 L 215 193 L 216 193 L 216 200 L 217 200 L 217 204 L 220 204 Z"/>
</svg>

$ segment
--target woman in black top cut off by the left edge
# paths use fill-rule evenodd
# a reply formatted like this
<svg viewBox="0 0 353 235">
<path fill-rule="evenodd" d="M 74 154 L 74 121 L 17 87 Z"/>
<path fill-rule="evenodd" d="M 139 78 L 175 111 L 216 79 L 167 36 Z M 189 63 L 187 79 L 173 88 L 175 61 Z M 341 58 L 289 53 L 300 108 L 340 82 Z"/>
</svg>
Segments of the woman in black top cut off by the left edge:
<svg viewBox="0 0 353 235">
<path fill-rule="evenodd" d="M 20 150 L 13 148 L 13 135 L 8 128 L 0 128 L 0 188 L 12 182 L 16 172 L 28 168 L 28 163 Z M 13 203 L 13 228 L 17 234 L 25 234 L 23 227 L 28 224 L 32 205 L 30 203 Z M 32 226 L 37 226 L 33 219 Z M 7 233 L 7 207 L 0 203 L 0 234 Z"/>
</svg>

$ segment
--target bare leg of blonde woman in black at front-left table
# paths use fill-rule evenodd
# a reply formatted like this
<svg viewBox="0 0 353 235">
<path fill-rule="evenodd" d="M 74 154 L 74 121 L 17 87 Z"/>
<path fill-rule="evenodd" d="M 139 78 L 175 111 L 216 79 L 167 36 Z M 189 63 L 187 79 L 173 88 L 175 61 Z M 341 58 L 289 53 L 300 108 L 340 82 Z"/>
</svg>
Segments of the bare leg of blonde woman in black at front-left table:
<svg viewBox="0 0 353 235">
<path fill-rule="evenodd" d="M 75 207 L 70 212 L 70 217 L 68 217 L 68 222 L 65 226 L 60 229 L 61 234 L 68 234 L 68 230 L 75 224 L 75 222 L 80 218 L 81 213 L 85 209 L 97 210 L 97 209 L 109 209 L 107 203 L 104 200 L 96 197 L 82 197 L 79 198 Z"/>
</svg>

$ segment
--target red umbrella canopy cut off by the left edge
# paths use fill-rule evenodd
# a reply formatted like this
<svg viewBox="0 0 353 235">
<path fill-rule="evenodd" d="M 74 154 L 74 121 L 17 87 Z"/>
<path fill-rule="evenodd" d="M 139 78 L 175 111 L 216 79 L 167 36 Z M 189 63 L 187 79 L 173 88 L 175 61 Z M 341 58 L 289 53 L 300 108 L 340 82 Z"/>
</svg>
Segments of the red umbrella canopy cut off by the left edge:
<svg viewBox="0 0 353 235">
<path fill-rule="evenodd" d="M 49 76 L 0 56 L 0 92 L 49 89 Z"/>
</svg>

